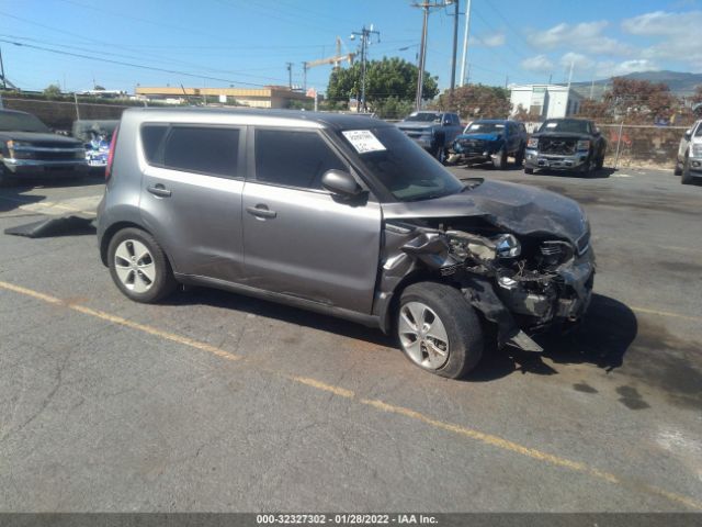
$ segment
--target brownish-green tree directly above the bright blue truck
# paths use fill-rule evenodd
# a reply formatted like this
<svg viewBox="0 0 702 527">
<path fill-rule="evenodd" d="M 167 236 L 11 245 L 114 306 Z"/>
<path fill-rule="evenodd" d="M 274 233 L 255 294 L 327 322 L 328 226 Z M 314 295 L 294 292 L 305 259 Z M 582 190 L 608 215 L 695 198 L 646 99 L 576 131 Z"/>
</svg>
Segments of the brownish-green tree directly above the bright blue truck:
<svg viewBox="0 0 702 527">
<path fill-rule="evenodd" d="M 437 102 L 439 110 L 458 112 L 461 119 L 505 119 L 512 104 L 509 90 L 498 86 L 465 85 L 456 88 L 453 97 L 444 91 Z"/>
</svg>

